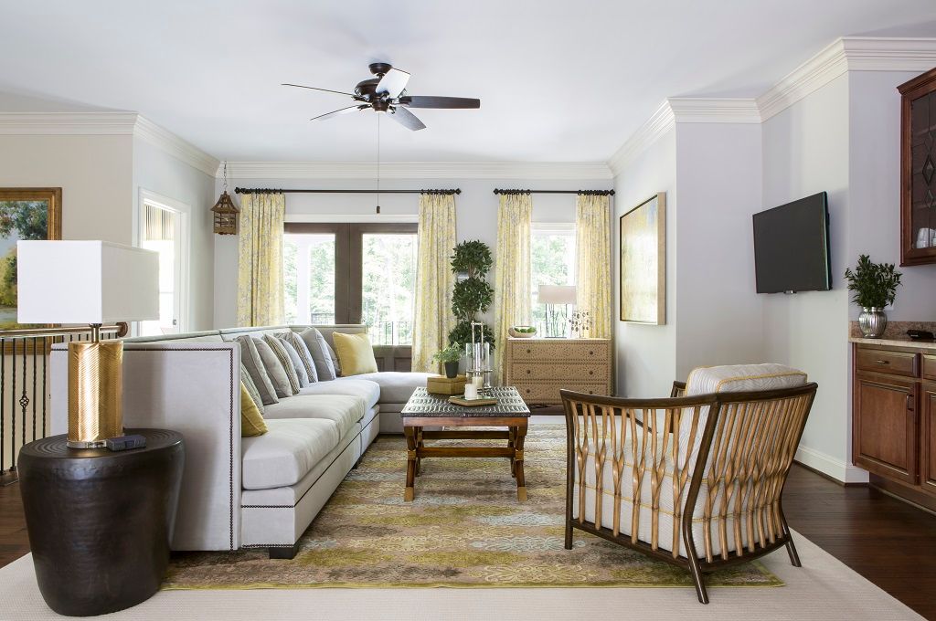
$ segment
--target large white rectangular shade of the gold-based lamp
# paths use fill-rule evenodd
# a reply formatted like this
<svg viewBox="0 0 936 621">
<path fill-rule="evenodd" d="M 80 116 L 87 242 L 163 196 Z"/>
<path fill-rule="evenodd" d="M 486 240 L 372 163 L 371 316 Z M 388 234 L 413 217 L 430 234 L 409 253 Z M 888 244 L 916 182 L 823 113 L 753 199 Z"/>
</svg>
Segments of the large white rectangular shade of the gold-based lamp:
<svg viewBox="0 0 936 621">
<path fill-rule="evenodd" d="M 17 321 L 159 319 L 159 254 L 110 241 L 19 241 Z"/>
</svg>

